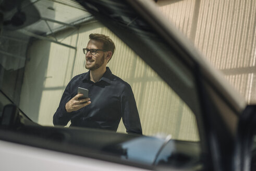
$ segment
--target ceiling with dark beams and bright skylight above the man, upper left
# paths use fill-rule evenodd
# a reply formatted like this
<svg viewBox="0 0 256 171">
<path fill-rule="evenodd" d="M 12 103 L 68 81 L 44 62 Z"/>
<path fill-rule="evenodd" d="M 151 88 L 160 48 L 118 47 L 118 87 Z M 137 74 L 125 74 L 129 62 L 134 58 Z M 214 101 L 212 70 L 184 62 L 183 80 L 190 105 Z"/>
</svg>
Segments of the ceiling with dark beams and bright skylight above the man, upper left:
<svg viewBox="0 0 256 171">
<path fill-rule="evenodd" d="M 67 28 L 78 29 L 81 23 L 94 19 L 74 0 L 0 0 L 1 16 L 0 64 L 7 70 L 25 65 L 31 38 L 76 49 L 59 42 L 54 33 Z"/>
</svg>

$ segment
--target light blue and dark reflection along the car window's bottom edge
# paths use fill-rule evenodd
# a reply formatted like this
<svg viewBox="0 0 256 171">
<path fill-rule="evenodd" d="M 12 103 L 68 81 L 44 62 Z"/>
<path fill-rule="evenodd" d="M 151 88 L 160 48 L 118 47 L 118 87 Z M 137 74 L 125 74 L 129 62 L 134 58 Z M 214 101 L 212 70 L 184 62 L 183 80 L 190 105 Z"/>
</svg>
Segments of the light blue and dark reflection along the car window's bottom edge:
<svg viewBox="0 0 256 171">
<path fill-rule="evenodd" d="M 157 137 L 138 137 L 106 146 L 102 151 L 122 160 L 147 165 L 196 166 L 199 164 L 199 143 Z"/>
</svg>

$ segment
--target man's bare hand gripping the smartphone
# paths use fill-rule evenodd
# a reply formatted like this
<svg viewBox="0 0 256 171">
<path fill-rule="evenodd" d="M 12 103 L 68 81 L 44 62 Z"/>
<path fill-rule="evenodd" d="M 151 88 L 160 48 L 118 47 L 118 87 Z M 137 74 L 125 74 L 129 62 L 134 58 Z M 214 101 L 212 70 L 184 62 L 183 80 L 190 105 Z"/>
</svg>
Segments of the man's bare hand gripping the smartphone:
<svg viewBox="0 0 256 171">
<path fill-rule="evenodd" d="M 78 99 L 79 97 L 82 97 L 82 96 L 83 94 L 77 94 L 75 97 L 73 97 L 70 101 L 66 103 L 65 108 L 68 113 L 77 111 L 80 108 L 91 104 L 90 98 Z M 86 102 L 86 103 L 83 103 L 83 102 Z"/>
</svg>

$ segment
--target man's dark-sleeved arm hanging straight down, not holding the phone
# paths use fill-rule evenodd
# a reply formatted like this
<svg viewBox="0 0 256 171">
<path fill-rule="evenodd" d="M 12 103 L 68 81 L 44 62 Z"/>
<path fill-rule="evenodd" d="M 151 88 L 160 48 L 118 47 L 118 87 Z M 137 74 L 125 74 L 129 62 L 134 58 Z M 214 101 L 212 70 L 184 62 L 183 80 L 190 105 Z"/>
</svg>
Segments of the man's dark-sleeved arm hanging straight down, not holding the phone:
<svg viewBox="0 0 256 171">
<path fill-rule="evenodd" d="M 121 94 L 121 112 L 126 132 L 142 134 L 135 97 L 129 84 Z"/>
</svg>

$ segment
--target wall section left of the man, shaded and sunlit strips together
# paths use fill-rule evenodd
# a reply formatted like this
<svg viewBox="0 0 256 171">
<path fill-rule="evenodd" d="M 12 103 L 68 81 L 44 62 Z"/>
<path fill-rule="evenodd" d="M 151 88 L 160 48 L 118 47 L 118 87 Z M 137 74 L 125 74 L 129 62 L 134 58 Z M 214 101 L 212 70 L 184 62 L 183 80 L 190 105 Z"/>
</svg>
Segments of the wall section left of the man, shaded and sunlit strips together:
<svg viewBox="0 0 256 171">
<path fill-rule="evenodd" d="M 71 78 L 75 50 L 36 41 L 30 47 L 29 56 L 21 90 L 21 109 L 39 124 L 52 125 L 56 106 Z"/>
</svg>

